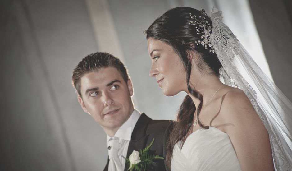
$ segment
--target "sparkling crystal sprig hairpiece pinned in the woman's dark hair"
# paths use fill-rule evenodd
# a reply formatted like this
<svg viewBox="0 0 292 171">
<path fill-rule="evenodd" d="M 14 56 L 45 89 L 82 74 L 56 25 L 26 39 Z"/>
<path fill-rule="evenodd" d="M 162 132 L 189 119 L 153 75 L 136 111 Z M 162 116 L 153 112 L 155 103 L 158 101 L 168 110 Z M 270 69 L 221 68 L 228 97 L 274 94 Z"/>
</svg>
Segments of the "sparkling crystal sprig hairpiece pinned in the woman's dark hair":
<svg viewBox="0 0 292 171">
<path fill-rule="evenodd" d="M 201 14 L 207 15 L 204 9 L 201 10 Z M 209 21 L 206 21 L 206 17 L 204 16 L 193 16 L 192 13 L 189 13 L 189 16 L 191 16 L 194 21 L 190 21 L 189 25 L 194 25 L 197 30 L 197 35 L 201 34 L 201 40 L 195 41 L 197 45 L 202 44 L 205 49 L 208 49 L 208 46 L 210 47 L 209 52 L 214 53 L 213 46 L 210 42 L 210 36 L 211 36 L 211 30 L 212 27 L 210 26 Z"/>
</svg>

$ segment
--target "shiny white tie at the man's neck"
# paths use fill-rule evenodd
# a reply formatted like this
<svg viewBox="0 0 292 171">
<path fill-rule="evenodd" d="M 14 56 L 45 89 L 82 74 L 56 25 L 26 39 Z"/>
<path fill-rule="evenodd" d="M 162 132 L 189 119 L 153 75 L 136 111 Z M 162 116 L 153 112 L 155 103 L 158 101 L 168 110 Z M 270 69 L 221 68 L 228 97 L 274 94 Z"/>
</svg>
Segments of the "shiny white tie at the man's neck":
<svg viewBox="0 0 292 171">
<path fill-rule="evenodd" d="M 119 156 L 119 138 L 108 141 L 108 171 L 123 171 Z"/>
</svg>

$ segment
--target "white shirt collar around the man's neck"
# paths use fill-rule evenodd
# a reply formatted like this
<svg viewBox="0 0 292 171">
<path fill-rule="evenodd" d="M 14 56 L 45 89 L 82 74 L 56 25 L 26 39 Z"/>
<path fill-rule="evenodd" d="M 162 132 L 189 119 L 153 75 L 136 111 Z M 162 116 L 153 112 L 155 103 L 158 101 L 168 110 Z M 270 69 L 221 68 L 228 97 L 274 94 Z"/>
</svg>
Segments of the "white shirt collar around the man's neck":
<svg viewBox="0 0 292 171">
<path fill-rule="evenodd" d="M 134 109 L 133 113 L 129 117 L 129 119 L 118 129 L 114 137 L 118 137 L 123 140 L 131 140 L 132 132 L 134 130 L 134 127 L 141 116 L 141 113 Z M 107 135 L 107 142 L 111 139 L 112 137 Z"/>
</svg>

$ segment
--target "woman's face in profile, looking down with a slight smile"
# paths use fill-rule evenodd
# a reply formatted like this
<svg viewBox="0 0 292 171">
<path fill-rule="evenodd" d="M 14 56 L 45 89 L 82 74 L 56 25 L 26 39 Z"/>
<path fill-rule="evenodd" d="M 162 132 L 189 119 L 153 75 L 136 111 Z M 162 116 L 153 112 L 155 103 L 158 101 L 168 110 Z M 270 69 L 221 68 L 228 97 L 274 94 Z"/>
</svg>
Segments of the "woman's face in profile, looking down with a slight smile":
<svg viewBox="0 0 292 171">
<path fill-rule="evenodd" d="M 167 43 L 148 39 L 148 52 L 152 60 L 150 76 L 156 78 L 158 86 L 166 96 L 187 91 L 186 73 L 180 57 Z"/>
</svg>

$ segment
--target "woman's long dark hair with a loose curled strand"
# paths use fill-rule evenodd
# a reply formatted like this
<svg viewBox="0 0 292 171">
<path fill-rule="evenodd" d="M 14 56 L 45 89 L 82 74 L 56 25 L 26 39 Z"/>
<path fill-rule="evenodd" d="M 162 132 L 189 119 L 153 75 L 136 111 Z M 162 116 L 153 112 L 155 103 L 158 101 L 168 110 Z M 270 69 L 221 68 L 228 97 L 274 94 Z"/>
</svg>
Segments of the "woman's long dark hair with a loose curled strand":
<svg viewBox="0 0 292 171">
<path fill-rule="evenodd" d="M 192 126 L 194 113 L 197 109 L 197 118 L 199 118 L 199 113 L 203 104 L 203 95 L 189 84 L 192 69 L 192 61 L 189 58 L 189 55 L 191 54 L 190 52 L 197 52 L 198 60 L 196 61 L 196 65 L 200 72 L 208 71 L 219 77 L 219 69 L 222 67 L 216 53 L 209 52 L 210 49 L 205 49 L 201 44 L 196 45 L 195 41 L 202 41 L 202 39 L 200 38 L 201 35 L 197 34 L 195 27 L 189 25 L 190 21 L 192 21 L 189 13 L 196 16 L 204 16 L 200 11 L 194 8 L 172 8 L 162 16 L 158 17 L 149 28 L 145 30 L 147 39 L 153 38 L 161 40 L 173 48 L 174 52 L 180 57 L 184 65 L 188 91 L 195 98 L 200 100 L 200 104 L 196 107 L 190 96 L 186 95 L 184 101 L 180 105 L 176 122 L 174 122 L 174 126 L 170 131 L 170 136 L 167 142 L 168 151 L 166 155 L 166 164 L 169 168 L 171 168 L 172 150 L 174 145 L 180 140 L 185 140 L 186 135 Z M 210 18 L 208 16 L 205 17 L 212 26 Z M 203 125 L 199 119 L 198 124 L 204 129 L 209 128 L 208 126 Z"/>
</svg>

